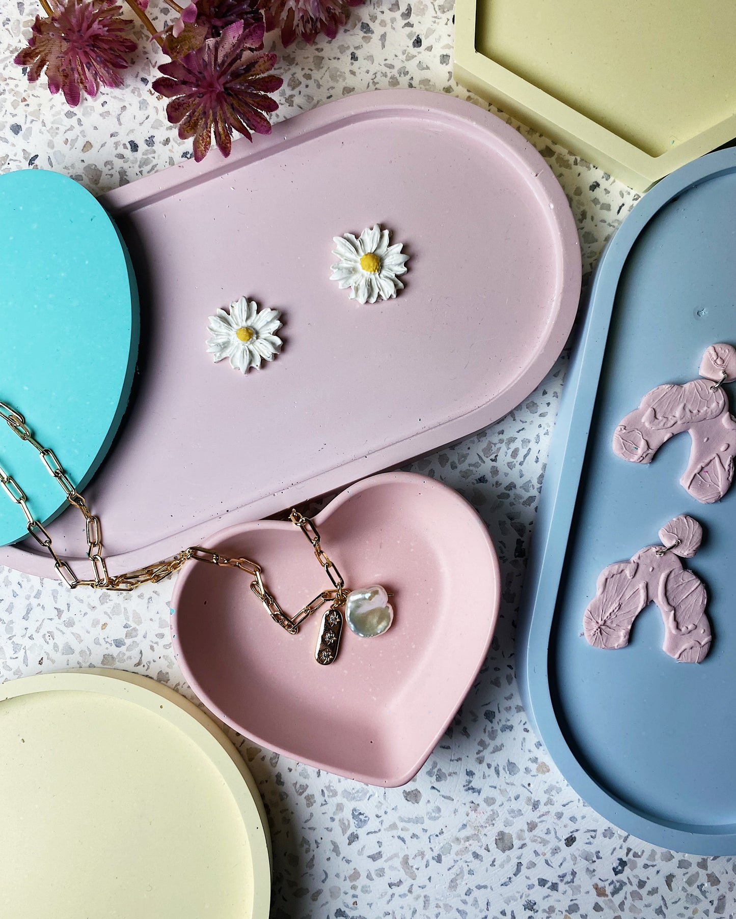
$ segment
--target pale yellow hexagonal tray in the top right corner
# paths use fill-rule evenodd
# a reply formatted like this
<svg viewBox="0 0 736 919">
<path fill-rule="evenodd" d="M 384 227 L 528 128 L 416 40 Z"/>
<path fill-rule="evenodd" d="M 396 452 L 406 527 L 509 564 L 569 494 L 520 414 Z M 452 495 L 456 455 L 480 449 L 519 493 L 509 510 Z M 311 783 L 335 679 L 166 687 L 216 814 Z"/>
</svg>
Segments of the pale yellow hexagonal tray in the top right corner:
<svg viewBox="0 0 736 919">
<path fill-rule="evenodd" d="M 645 191 L 736 137 L 733 0 L 457 0 L 454 75 Z"/>
</svg>

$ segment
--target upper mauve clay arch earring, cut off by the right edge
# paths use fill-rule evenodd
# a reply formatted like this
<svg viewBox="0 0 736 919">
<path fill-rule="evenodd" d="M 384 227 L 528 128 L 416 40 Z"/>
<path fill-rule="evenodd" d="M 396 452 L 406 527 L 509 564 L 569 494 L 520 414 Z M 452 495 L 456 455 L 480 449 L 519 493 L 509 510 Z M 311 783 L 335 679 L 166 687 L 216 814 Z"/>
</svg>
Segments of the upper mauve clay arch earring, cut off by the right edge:
<svg viewBox="0 0 736 919">
<path fill-rule="evenodd" d="M 711 345 L 700 364 L 704 380 L 666 383 L 648 392 L 636 411 L 615 429 L 614 452 L 630 462 L 649 463 L 663 443 L 690 432 L 690 460 L 680 484 L 701 504 L 719 501 L 733 479 L 736 418 L 729 413 L 723 383 L 736 380 L 736 349 Z"/>
</svg>

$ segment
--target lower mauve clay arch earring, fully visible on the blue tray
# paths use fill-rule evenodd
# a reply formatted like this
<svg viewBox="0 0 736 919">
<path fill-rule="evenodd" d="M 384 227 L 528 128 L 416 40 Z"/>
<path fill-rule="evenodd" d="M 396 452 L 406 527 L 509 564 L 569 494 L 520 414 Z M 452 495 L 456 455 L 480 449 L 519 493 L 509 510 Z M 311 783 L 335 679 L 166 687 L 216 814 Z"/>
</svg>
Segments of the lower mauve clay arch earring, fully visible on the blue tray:
<svg viewBox="0 0 736 919">
<path fill-rule="evenodd" d="M 693 517 L 676 516 L 661 528 L 660 539 L 661 546 L 647 546 L 598 575 L 583 632 L 595 648 L 624 648 L 634 619 L 653 601 L 664 622 L 664 651 L 676 661 L 700 664 L 711 641 L 707 593 L 680 559 L 696 554 L 703 528 Z"/>
</svg>

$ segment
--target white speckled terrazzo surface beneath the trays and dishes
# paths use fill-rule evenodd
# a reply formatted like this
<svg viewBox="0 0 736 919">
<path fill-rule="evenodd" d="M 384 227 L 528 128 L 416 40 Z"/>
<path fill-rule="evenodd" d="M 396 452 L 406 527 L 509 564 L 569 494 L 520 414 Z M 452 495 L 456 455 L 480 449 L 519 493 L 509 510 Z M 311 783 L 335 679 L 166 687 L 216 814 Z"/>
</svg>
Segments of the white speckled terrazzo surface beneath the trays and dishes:
<svg viewBox="0 0 736 919">
<path fill-rule="evenodd" d="M 100 193 L 190 155 L 151 92 L 150 48 L 139 52 L 121 89 L 76 110 L 30 87 L 11 60 L 37 9 L 7 0 L 0 7 L 1 170 L 52 168 Z M 167 7 L 157 10 L 163 21 Z M 452 0 L 359 7 L 333 42 L 300 43 L 283 54 L 279 117 L 388 86 L 469 97 L 452 81 L 452 31 Z M 523 132 L 569 196 L 587 277 L 636 196 Z M 736 911 L 733 859 L 668 852 L 605 823 L 559 776 L 524 717 L 513 672 L 515 616 L 564 369 L 563 357 L 500 423 L 410 467 L 477 507 L 503 580 L 489 658 L 419 776 L 403 789 L 368 788 L 233 735 L 269 810 L 274 919 L 653 919 Z M 102 665 L 191 695 L 171 652 L 170 594 L 165 583 L 125 598 L 70 595 L 0 569 L 0 674 Z"/>
</svg>

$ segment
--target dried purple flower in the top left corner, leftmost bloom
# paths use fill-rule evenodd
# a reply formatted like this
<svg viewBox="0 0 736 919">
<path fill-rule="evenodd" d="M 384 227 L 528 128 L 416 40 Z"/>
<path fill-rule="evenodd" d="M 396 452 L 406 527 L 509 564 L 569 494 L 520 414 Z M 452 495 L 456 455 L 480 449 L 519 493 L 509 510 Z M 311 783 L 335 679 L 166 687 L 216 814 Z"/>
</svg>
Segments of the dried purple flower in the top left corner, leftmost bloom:
<svg viewBox="0 0 736 919">
<path fill-rule="evenodd" d="M 35 83 L 46 68 L 52 93 L 63 90 L 70 106 L 79 104 L 82 90 L 96 96 L 100 84 L 120 86 L 120 71 L 128 66 L 123 57 L 135 51 L 128 38 L 130 19 L 118 14 L 112 0 L 50 0 L 52 15 L 31 26 L 29 44 L 15 62 L 28 66 L 29 82 Z"/>
</svg>

